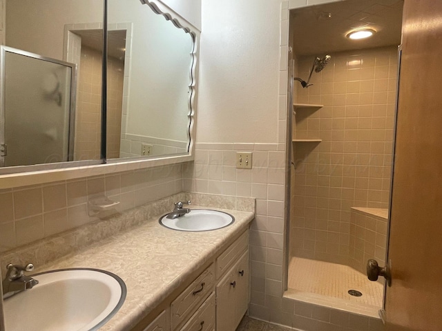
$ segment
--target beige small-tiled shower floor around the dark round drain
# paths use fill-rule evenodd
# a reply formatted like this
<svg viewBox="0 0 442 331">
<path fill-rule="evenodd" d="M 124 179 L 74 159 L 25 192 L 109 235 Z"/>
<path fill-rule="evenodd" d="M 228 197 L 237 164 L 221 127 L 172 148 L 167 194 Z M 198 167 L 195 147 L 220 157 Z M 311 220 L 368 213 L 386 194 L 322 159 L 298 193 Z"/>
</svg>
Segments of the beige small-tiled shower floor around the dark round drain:
<svg viewBox="0 0 442 331">
<path fill-rule="evenodd" d="M 292 257 L 285 296 L 376 317 L 382 308 L 383 285 L 369 281 L 347 265 Z M 353 297 L 348 290 L 362 292 Z"/>
</svg>

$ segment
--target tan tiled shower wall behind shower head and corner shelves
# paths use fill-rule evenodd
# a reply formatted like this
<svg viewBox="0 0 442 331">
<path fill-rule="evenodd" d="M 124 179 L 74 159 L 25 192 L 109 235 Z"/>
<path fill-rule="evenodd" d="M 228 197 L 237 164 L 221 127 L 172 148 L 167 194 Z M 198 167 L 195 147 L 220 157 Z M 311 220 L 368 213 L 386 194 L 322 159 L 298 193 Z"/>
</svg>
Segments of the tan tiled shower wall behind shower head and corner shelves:
<svg viewBox="0 0 442 331">
<path fill-rule="evenodd" d="M 314 86 L 296 86 L 294 218 L 291 254 L 349 263 L 350 208 L 387 208 L 396 101 L 397 48 L 331 54 L 312 75 Z M 308 77 L 314 57 L 299 59 Z"/>
</svg>

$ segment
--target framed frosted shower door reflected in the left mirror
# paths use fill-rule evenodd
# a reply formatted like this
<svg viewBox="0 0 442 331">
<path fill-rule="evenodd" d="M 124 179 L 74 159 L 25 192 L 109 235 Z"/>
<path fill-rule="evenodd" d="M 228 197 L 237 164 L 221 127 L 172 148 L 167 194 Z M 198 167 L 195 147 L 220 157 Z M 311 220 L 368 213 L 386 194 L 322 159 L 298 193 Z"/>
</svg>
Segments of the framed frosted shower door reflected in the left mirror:
<svg viewBox="0 0 442 331">
<path fill-rule="evenodd" d="M 76 65 L 1 48 L 1 166 L 73 160 Z"/>
</svg>

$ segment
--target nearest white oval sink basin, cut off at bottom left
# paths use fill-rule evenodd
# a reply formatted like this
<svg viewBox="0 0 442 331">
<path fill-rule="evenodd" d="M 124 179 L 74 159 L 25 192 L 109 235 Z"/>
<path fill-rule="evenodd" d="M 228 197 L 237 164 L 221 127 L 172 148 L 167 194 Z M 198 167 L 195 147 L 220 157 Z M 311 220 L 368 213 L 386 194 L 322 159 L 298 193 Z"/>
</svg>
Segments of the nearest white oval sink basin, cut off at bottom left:
<svg viewBox="0 0 442 331">
<path fill-rule="evenodd" d="M 4 301 L 6 330 L 98 330 L 126 299 L 111 272 L 64 269 L 31 276 L 39 283 Z"/>
</svg>

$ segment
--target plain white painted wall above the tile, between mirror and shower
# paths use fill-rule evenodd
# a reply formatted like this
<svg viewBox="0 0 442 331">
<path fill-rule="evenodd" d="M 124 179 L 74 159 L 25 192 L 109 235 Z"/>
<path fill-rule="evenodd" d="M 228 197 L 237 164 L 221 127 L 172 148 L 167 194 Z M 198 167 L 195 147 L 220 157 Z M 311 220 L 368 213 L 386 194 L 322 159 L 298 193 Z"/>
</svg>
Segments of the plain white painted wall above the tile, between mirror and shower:
<svg viewBox="0 0 442 331">
<path fill-rule="evenodd" d="M 202 1 L 197 143 L 277 143 L 280 0 Z"/>
</svg>

